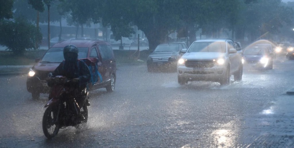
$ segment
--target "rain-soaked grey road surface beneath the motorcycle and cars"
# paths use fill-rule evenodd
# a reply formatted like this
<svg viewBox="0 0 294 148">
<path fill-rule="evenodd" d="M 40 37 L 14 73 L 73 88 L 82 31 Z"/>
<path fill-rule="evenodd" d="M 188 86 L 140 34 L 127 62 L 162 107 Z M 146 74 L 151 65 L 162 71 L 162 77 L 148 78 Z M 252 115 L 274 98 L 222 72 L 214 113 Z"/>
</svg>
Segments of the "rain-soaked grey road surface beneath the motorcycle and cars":
<svg viewBox="0 0 294 148">
<path fill-rule="evenodd" d="M 41 126 L 47 95 L 34 101 L 26 76 L 0 77 L 0 147 L 246 147 L 254 138 L 244 132 L 245 118 L 294 86 L 293 64 L 279 57 L 273 70 L 245 69 L 242 82 L 231 77 L 222 87 L 180 86 L 173 72 L 119 66 L 114 92 L 91 92 L 87 127 L 61 129 L 52 140 Z"/>
</svg>

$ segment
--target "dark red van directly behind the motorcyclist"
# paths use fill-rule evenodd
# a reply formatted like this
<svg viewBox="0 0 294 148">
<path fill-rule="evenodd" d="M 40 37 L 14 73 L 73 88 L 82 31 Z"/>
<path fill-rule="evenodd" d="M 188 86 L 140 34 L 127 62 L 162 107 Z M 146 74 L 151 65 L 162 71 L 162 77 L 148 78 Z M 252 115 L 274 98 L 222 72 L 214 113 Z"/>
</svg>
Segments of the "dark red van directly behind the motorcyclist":
<svg viewBox="0 0 294 148">
<path fill-rule="evenodd" d="M 46 83 L 48 73 L 53 72 L 64 60 L 63 48 L 69 44 L 78 47 L 78 59 L 98 58 L 96 65 L 101 74 L 101 80 L 89 83 L 90 89 L 106 88 L 112 92 L 116 81 L 116 61 L 111 44 L 99 40 L 68 40 L 54 44 L 41 59 L 36 59 L 36 64 L 30 69 L 26 81 L 26 88 L 32 93 L 33 99 L 38 99 L 40 93 L 49 93 Z M 92 71 L 92 76 L 94 73 Z"/>
</svg>

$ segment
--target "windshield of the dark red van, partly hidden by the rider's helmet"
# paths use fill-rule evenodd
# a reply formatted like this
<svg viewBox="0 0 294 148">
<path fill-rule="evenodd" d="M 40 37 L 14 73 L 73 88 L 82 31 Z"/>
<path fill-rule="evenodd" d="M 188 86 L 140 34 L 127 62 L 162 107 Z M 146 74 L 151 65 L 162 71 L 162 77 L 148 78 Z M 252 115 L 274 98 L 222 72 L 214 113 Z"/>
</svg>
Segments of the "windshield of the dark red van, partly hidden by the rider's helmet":
<svg viewBox="0 0 294 148">
<path fill-rule="evenodd" d="M 78 48 L 78 58 L 86 58 L 87 51 L 88 48 Z M 50 48 L 42 58 L 42 63 L 61 63 L 63 60 L 63 48 Z"/>
</svg>

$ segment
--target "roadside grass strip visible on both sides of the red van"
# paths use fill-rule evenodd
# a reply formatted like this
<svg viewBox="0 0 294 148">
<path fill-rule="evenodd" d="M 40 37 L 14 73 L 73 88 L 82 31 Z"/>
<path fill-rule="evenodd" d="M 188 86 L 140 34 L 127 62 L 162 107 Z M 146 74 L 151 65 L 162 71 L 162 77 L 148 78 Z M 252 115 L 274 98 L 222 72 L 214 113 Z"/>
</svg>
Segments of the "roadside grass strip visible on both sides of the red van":
<svg viewBox="0 0 294 148">
<path fill-rule="evenodd" d="M 31 50 L 26 51 L 22 56 L 16 56 L 12 51 L 0 51 L 0 65 L 34 65 L 36 58 L 41 58 L 47 50 Z M 138 53 L 129 50 L 113 50 L 116 57 L 116 63 L 146 63 L 149 51 L 140 51 L 140 60 L 138 61 Z"/>
</svg>

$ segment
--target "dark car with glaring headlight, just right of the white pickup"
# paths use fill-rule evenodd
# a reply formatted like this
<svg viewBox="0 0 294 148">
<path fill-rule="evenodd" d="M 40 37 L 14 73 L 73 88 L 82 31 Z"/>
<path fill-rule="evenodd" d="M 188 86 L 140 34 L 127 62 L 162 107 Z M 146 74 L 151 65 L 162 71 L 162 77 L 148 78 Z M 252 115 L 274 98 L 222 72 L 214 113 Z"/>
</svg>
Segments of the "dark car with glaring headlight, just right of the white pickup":
<svg viewBox="0 0 294 148">
<path fill-rule="evenodd" d="M 265 47 L 248 47 L 243 52 L 244 65 L 256 69 L 273 69 L 273 55 Z"/>
</svg>

